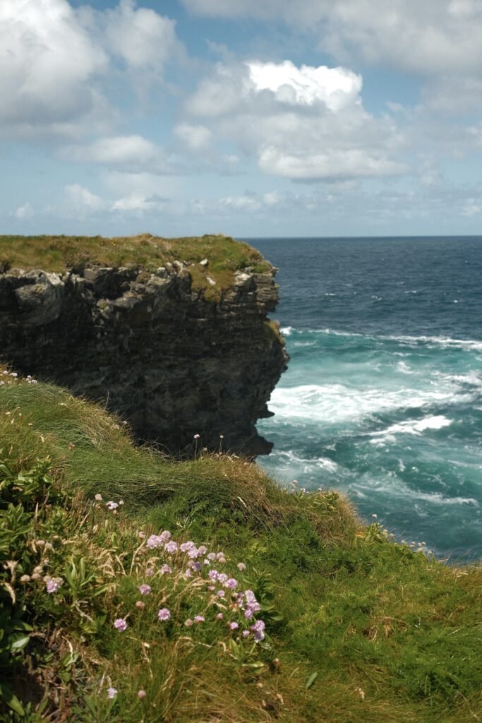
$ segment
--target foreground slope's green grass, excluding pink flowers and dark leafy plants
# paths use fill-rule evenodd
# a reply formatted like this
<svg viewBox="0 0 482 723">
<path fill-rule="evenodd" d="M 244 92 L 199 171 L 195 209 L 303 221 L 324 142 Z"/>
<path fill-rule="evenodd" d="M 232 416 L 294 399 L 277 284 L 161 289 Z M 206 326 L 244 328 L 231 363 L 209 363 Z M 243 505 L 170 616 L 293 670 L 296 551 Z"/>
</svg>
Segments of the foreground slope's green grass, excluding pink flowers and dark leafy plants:
<svg viewBox="0 0 482 723">
<path fill-rule="evenodd" d="M 336 493 L 289 494 L 256 465 L 229 455 L 172 463 L 135 448 L 119 420 L 53 385 L 12 380 L 0 387 L 0 448 L 17 469 L 50 455 L 70 496 L 81 492 L 65 523 L 69 542 L 52 551 L 51 565 L 76 549 L 87 568 L 101 567 L 100 578 L 118 583 L 104 596 L 107 617 L 98 617 L 95 633 L 79 630 L 72 610 L 57 620 L 47 608 L 36 613 L 54 651 L 51 700 L 67 719 L 481 719 L 480 568 L 428 560 L 390 542 L 376 523 L 363 528 Z M 95 493 L 122 497 L 121 514 L 93 507 Z M 264 614 L 267 646 L 244 660 L 262 667 L 236 664 L 233 634 L 219 633 L 212 621 L 160 635 L 157 621 L 136 617 L 137 584 L 146 582 L 145 568 L 133 562 L 139 529 L 169 529 L 181 541 L 223 549 L 229 574 L 240 578 L 236 562 L 246 563 L 244 586 L 260 590 L 262 578 L 274 584 L 274 608 Z M 181 587 L 176 592 L 163 587 L 163 578 L 152 580 L 156 604 L 165 599 L 179 615 L 195 614 L 194 598 L 182 598 Z M 40 597 L 35 609 L 43 609 Z M 129 631 L 113 632 L 114 617 L 126 610 Z M 58 660 L 68 646 L 79 654 L 77 686 L 59 680 Z M 113 702 L 106 681 L 119 690 Z M 139 688 L 147 691 L 144 701 Z"/>
</svg>

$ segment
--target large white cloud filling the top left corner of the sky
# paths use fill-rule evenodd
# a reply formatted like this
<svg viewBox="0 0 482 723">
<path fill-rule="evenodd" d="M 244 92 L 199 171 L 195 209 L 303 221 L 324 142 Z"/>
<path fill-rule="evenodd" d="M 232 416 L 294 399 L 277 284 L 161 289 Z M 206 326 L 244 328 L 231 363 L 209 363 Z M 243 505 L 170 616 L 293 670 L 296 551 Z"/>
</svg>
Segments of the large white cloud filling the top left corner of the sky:
<svg viewBox="0 0 482 723">
<path fill-rule="evenodd" d="M 106 64 L 66 0 L 1 0 L 0 125 L 59 128 L 92 112 Z"/>
</svg>

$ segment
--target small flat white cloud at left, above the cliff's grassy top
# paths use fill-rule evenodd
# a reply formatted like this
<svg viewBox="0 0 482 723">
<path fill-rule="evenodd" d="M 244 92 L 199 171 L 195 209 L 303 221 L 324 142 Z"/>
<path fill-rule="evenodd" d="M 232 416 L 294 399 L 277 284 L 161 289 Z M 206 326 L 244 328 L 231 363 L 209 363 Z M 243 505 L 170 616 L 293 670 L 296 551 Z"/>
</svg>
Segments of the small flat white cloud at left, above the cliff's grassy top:
<svg viewBox="0 0 482 723">
<path fill-rule="evenodd" d="M 111 168 L 153 173 L 167 173 L 168 161 L 163 149 L 139 135 L 100 138 L 86 145 L 70 145 L 60 152 L 70 161 L 102 163 Z"/>
</svg>

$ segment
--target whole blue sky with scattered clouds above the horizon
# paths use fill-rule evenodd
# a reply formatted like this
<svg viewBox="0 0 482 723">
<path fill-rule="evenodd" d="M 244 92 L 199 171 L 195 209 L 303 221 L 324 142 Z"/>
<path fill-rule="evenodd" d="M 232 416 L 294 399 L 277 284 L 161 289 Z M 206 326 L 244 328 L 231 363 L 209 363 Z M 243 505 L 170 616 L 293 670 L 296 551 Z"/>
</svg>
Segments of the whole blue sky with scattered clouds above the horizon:
<svg viewBox="0 0 482 723">
<path fill-rule="evenodd" d="M 0 234 L 482 233 L 482 0 L 0 0 Z"/>
</svg>

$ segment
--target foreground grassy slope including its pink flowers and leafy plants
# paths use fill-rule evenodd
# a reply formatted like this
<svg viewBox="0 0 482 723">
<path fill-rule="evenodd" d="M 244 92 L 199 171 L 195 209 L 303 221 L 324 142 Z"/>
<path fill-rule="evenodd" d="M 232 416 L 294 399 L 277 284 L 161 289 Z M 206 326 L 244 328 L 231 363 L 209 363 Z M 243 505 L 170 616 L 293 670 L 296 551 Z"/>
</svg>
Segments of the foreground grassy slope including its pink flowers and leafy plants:
<svg viewBox="0 0 482 723">
<path fill-rule="evenodd" d="M 0 440 L 0 719 L 481 719 L 480 568 L 2 367 Z"/>
</svg>

